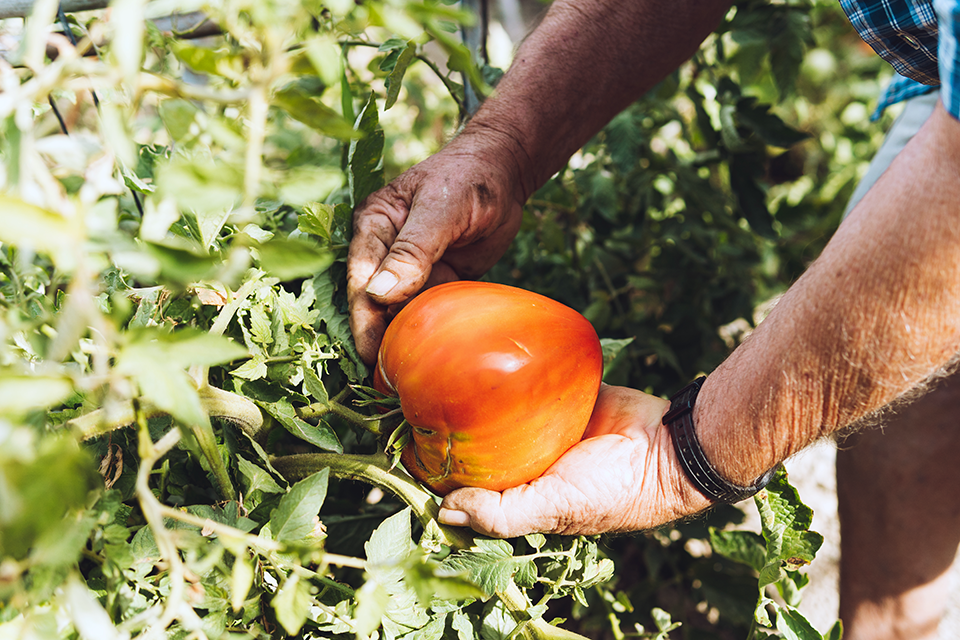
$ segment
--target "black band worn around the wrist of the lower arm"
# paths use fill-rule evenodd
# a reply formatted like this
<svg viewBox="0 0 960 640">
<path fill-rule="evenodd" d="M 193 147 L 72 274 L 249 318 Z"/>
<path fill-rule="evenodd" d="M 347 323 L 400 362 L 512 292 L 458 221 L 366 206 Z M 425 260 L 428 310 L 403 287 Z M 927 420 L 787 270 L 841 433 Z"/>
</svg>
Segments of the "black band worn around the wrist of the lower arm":
<svg viewBox="0 0 960 640">
<path fill-rule="evenodd" d="M 693 406 L 705 380 L 706 377 L 697 378 L 670 398 L 670 410 L 663 416 L 663 424 L 670 429 L 680 466 L 693 486 L 714 502 L 733 504 L 759 493 L 770 483 L 780 465 L 748 487 L 735 485 L 717 472 L 700 448 L 693 425 Z"/>
</svg>

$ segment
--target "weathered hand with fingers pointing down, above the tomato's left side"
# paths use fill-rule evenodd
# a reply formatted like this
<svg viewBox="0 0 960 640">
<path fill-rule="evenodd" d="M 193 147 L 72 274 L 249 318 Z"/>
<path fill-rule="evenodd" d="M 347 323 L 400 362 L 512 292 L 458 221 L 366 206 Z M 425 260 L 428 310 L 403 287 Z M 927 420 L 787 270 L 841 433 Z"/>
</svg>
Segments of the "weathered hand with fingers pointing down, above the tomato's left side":
<svg viewBox="0 0 960 640">
<path fill-rule="evenodd" d="M 520 228 L 526 194 L 516 156 L 478 138 L 461 134 L 354 211 L 347 294 L 367 363 L 376 362 L 388 312 L 425 287 L 483 275 Z"/>
</svg>

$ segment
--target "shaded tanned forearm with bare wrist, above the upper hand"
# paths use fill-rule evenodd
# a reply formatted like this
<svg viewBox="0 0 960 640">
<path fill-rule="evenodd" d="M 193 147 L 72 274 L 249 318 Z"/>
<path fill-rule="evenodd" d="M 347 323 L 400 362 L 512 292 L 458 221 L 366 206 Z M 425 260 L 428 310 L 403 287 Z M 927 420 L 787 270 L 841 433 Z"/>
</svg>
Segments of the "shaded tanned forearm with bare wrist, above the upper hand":
<svg viewBox="0 0 960 640">
<path fill-rule="evenodd" d="M 493 141 L 523 202 L 614 115 L 672 73 L 729 0 L 557 0 L 460 137 Z M 505 153 L 504 153 L 505 152 Z"/>
</svg>

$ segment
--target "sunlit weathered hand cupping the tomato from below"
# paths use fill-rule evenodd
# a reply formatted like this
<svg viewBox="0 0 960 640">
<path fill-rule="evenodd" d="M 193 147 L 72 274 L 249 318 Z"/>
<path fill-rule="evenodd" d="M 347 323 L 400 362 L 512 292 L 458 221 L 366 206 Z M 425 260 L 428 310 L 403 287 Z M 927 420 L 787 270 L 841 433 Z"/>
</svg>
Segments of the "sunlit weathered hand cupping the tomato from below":
<svg viewBox="0 0 960 640">
<path fill-rule="evenodd" d="M 440 521 L 499 538 L 639 531 L 710 506 L 687 480 L 661 423 L 670 402 L 603 385 L 587 431 L 546 473 L 502 493 L 463 488 Z"/>
</svg>

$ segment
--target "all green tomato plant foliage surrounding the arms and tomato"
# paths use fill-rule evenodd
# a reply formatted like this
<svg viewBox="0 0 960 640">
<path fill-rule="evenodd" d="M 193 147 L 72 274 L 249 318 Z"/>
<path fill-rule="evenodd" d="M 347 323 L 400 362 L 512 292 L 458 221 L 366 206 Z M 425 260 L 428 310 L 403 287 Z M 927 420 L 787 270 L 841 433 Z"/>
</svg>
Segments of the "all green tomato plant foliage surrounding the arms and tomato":
<svg viewBox="0 0 960 640">
<path fill-rule="evenodd" d="M 727 507 L 491 540 L 384 453 L 351 211 L 455 132 L 464 77 L 495 81 L 472 20 L 39 0 L 0 23 L 0 637 L 821 637 L 794 608 L 820 539 L 782 477 L 758 534 Z M 489 278 L 585 314 L 607 382 L 675 391 L 836 224 L 878 69 L 832 7 L 738 3 L 534 196 Z"/>
</svg>

